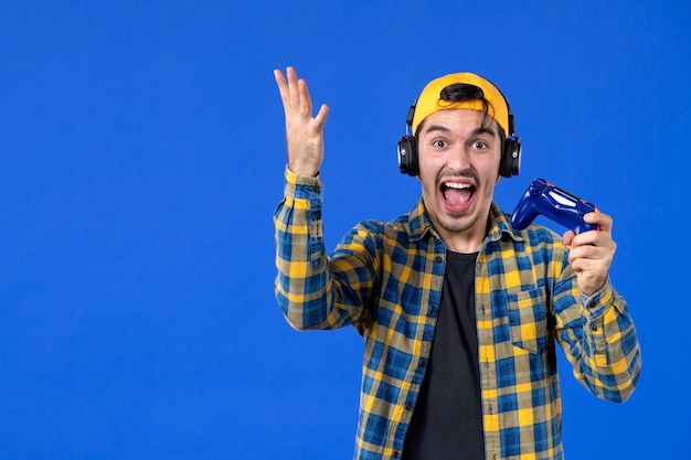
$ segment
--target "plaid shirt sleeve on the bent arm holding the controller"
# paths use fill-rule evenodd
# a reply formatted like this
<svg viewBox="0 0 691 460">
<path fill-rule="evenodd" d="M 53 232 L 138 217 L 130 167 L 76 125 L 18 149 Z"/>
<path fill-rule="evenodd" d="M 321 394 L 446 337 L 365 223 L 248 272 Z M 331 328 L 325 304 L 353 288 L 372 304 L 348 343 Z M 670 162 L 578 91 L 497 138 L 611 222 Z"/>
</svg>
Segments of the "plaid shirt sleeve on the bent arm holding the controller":
<svg viewBox="0 0 691 460">
<path fill-rule="evenodd" d="M 634 393 L 641 365 L 628 304 L 610 280 L 595 295 L 583 296 L 573 269 L 565 267 L 554 295 L 556 339 L 575 377 L 592 394 L 624 402 Z"/>
</svg>

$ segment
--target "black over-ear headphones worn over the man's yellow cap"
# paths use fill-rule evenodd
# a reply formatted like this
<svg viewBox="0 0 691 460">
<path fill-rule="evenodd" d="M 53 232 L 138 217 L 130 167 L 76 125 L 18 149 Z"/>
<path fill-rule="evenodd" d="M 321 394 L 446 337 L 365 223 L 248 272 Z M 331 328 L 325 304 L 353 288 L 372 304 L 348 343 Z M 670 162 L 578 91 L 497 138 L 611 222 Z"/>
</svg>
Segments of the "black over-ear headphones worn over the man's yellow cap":
<svg viewBox="0 0 691 460">
<path fill-rule="evenodd" d="M 503 95 L 502 95 L 503 96 Z M 501 148 L 501 160 L 499 162 L 499 174 L 504 178 L 518 175 L 521 169 L 521 143 L 513 127 L 513 115 L 509 107 L 509 101 L 504 97 L 507 109 L 509 111 L 509 132 L 503 140 Z M 413 131 L 413 117 L 415 116 L 415 106 L 411 106 L 408 115 L 405 117 L 407 135 L 401 136 L 398 141 L 398 169 L 403 174 L 419 175 L 419 163 L 417 160 L 417 139 Z"/>
</svg>

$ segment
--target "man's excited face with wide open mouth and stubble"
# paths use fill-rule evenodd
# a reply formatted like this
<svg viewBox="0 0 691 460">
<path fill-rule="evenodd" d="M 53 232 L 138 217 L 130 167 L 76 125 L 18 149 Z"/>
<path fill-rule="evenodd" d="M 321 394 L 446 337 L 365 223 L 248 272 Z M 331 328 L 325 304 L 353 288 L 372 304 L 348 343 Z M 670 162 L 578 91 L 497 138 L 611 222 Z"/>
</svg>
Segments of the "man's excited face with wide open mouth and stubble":
<svg viewBox="0 0 691 460">
<path fill-rule="evenodd" d="M 476 110 L 439 110 L 417 133 L 423 201 L 443 239 L 485 236 L 502 139 L 497 122 L 482 119 Z"/>
</svg>

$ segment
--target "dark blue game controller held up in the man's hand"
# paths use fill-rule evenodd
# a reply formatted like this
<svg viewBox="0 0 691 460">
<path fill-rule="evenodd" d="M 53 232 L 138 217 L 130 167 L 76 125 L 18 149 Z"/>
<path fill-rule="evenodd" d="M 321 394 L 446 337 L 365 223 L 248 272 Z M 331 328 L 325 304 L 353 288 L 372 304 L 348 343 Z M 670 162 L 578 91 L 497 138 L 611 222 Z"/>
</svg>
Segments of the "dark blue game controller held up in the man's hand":
<svg viewBox="0 0 691 460">
<path fill-rule="evenodd" d="M 511 225 L 522 231 L 540 214 L 578 234 L 597 229 L 596 224 L 583 222 L 584 215 L 596 210 L 593 203 L 577 199 L 544 179 L 535 179 L 515 205 L 511 215 Z"/>
</svg>

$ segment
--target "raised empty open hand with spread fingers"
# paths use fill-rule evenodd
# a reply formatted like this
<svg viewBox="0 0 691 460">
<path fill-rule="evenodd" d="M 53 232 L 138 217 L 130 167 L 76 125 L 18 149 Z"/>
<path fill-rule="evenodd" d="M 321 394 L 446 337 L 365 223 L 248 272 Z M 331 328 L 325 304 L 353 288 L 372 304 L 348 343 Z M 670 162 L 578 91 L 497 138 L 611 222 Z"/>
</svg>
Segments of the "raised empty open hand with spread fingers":
<svg viewBox="0 0 691 460">
<path fill-rule="evenodd" d="M 274 77 L 286 117 L 288 168 L 298 175 L 316 176 L 323 160 L 323 125 L 329 107 L 322 104 L 312 118 L 312 100 L 307 82 L 298 79 L 295 68 L 288 67 L 286 76 L 276 69 Z"/>
</svg>

